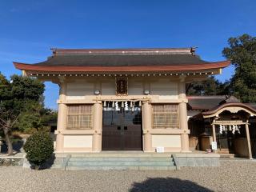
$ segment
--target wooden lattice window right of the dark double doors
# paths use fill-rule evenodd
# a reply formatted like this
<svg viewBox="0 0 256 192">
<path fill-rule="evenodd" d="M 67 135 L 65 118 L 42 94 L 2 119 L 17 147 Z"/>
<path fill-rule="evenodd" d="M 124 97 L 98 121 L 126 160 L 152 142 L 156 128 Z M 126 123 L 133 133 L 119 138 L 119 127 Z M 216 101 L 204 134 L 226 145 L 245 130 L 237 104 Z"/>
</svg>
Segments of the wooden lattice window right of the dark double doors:
<svg viewBox="0 0 256 192">
<path fill-rule="evenodd" d="M 153 128 L 178 128 L 178 105 L 177 104 L 154 104 Z"/>
</svg>

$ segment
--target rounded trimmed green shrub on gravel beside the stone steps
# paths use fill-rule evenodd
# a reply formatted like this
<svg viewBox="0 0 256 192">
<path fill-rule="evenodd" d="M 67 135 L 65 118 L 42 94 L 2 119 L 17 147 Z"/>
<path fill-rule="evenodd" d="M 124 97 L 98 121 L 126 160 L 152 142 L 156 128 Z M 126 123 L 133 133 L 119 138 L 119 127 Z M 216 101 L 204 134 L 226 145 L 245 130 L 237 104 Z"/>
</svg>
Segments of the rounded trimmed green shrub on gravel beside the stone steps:
<svg viewBox="0 0 256 192">
<path fill-rule="evenodd" d="M 49 133 L 39 131 L 27 138 L 24 150 L 26 159 L 38 170 L 54 153 L 54 142 Z"/>
</svg>

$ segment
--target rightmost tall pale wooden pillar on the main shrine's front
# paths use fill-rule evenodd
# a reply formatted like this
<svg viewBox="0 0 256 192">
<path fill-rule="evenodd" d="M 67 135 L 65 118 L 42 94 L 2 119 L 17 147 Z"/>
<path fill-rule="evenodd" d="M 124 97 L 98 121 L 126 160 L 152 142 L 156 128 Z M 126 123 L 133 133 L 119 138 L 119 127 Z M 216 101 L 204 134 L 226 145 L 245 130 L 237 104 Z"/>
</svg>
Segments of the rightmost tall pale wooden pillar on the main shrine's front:
<svg viewBox="0 0 256 192">
<path fill-rule="evenodd" d="M 187 134 L 186 86 L 184 78 L 181 79 L 181 82 L 178 82 L 178 98 L 182 100 L 182 102 L 178 104 L 179 126 L 180 129 L 183 130 L 181 134 L 182 152 L 190 152 L 189 134 Z"/>
</svg>

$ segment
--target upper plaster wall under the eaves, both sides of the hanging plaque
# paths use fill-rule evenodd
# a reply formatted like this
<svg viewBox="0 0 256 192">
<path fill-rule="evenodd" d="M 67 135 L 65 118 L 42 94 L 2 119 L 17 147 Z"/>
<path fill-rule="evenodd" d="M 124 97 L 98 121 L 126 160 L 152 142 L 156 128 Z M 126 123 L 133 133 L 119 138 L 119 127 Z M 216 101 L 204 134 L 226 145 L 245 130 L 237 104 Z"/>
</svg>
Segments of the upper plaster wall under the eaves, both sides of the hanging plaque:
<svg viewBox="0 0 256 192">
<path fill-rule="evenodd" d="M 150 89 L 151 95 L 159 99 L 178 99 L 178 83 L 167 77 L 128 77 L 128 95 L 143 95 L 143 90 Z M 84 99 L 94 95 L 94 90 L 102 90 L 102 95 L 115 95 L 114 77 L 78 78 L 67 83 L 67 100 Z"/>
</svg>

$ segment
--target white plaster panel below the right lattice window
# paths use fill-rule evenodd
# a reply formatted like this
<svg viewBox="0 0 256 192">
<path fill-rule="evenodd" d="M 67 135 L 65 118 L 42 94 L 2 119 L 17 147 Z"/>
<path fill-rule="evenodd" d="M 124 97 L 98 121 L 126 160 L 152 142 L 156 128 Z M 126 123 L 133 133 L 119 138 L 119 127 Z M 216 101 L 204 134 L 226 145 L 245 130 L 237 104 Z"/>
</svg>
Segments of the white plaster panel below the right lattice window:
<svg viewBox="0 0 256 192">
<path fill-rule="evenodd" d="M 158 147 L 181 147 L 181 136 L 170 134 L 153 134 L 152 146 Z"/>
</svg>

